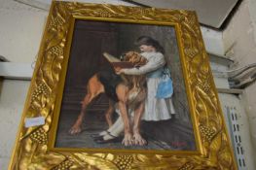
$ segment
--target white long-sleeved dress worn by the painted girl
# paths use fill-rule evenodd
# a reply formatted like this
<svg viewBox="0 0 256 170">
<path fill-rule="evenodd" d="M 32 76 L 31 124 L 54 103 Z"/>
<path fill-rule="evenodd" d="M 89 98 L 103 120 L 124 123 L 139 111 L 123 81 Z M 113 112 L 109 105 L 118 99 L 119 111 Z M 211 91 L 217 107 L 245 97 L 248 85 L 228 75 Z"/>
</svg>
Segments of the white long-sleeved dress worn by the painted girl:
<svg viewBox="0 0 256 170">
<path fill-rule="evenodd" d="M 162 80 L 163 66 L 165 66 L 165 56 L 161 52 L 142 52 L 148 59 L 147 64 L 140 68 L 124 69 L 127 75 L 147 76 L 147 97 L 145 100 L 145 112 L 141 119 L 163 120 L 171 119 L 175 110 L 171 98 L 156 98 L 158 85 Z"/>
</svg>

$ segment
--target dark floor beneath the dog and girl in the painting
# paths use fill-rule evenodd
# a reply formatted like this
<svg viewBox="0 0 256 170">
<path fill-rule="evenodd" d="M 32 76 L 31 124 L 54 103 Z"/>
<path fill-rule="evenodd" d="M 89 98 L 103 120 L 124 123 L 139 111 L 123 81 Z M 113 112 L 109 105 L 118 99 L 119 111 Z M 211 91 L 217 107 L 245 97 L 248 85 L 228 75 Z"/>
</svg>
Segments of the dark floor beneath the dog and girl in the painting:
<svg viewBox="0 0 256 170">
<path fill-rule="evenodd" d="M 74 112 L 74 111 L 73 111 Z M 142 128 L 142 136 L 148 141 L 147 146 L 129 146 L 125 147 L 122 145 L 121 141 L 116 143 L 107 143 L 107 144 L 97 144 L 93 141 L 91 138 L 91 134 L 99 133 L 102 130 L 107 129 L 107 123 L 104 117 L 103 113 L 100 113 L 98 111 L 92 111 L 89 112 L 87 117 L 84 120 L 83 124 L 83 131 L 80 134 L 77 135 L 70 135 L 68 133 L 69 128 L 74 123 L 75 119 L 77 118 L 78 111 L 71 114 L 71 111 L 65 111 L 61 113 L 59 123 L 58 123 L 58 129 L 57 129 L 57 135 L 56 135 L 56 141 L 55 141 L 55 147 L 56 148 L 83 148 L 83 149 L 130 149 L 130 150 L 195 150 L 195 147 L 188 146 L 189 143 L 184 143 L 184 139 L 182 139 L 182 142 L 177 142 L 177 137 L 175 135 L 169 134 L 168 136 L 173 138 L 167 139 L 167 141 L 162 140 L 162 136 L 164 136 L 163 139 L 165 139 L 165 129 L 169 129 L 171 127 L 166 126 L 167 124 L 170 124 L 171 122 L 157 122 L 158 124 L 164 124 L 165 128 L 159 129 L 159 125 L 156 124 L 156 122 L 142 122 L 141 128 Z M 166 125 L 165 125 L 166 123 Z M 149 128 L 151 126 L 151 128 Z M 156 128 L 154 128 L 154 126 Z M 154 132 L 158 135 L 154 135 Z M 163 134 L 160 134 L 162 133 Z M 173 132 L 175 133 L 175 132 Z M 162 136 L 161 136 L 162 135 Z M 158 138 L 159 137 L 159 138 Z M 183 137 L 184 138 L 184 137 Z M 122 139 L 121 139 L 122 140 Z M 186 139 L 187 140 L 187 139 Z M 169 142 L 170 141 L 170 142 Z M 171 142 L 172 141 L 172 142 Z M 178 141 L 181 141 L 178 139 Z"/>
</svg>

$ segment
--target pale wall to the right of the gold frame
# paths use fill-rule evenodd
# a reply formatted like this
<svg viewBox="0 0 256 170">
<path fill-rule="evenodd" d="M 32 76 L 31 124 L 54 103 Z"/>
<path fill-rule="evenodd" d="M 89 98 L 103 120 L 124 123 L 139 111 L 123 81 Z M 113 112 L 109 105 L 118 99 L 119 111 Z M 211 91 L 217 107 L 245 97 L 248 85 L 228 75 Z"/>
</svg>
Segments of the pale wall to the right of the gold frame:
<svg viewBox="0 0 256 170">
<path fill-rule="evenodd" d="M 256 62 L 256 0 L 241 2 L 236 15 L 223 31 L 223 42 L 227 57 L 235 63 L 231 69 L 237 69 Z M 254 68 L 254 74 L 256 68 Z M 248 85 L 241 95 L 248 120 L 253 150 L 256 151 L 256 84 Z M 248 139 L 250 140 L 250 139 Z M 254 162 L 256 158 L 254 157 Z"/>
</svg>

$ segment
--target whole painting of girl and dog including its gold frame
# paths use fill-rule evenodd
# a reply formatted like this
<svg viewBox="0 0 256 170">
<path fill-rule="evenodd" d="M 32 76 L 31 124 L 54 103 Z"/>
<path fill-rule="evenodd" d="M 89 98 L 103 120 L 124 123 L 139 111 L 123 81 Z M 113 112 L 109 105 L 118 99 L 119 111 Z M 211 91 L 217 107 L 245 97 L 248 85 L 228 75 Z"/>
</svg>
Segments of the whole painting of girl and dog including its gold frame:
<svg viewBox="0 0 256 170">
<path fill-rule="evenodd" d="M 237 169 L 195 12 L 54 1 L 10 169 Z"/>
</svg>

